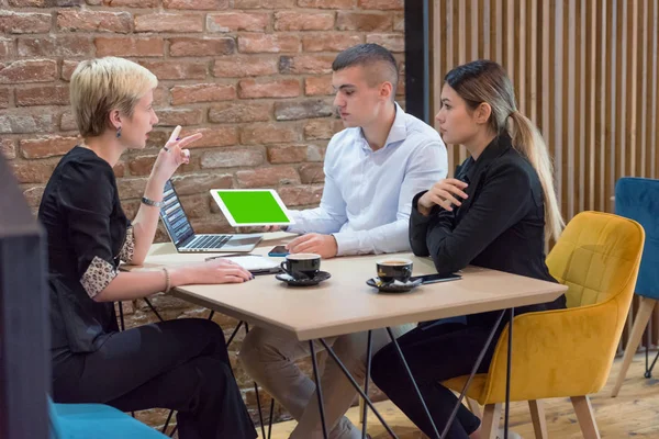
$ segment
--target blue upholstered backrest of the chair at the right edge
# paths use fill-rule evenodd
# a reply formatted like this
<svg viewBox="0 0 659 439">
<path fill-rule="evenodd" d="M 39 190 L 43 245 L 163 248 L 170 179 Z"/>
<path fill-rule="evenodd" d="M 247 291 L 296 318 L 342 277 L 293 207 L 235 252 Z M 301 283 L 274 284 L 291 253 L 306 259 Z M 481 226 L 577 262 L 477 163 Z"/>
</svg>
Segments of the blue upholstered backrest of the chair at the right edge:
<svg viewBox="0 0 659 439">
<path fill-rule="evenodd" d="M 636 294 L 659 300 L 659 180 L 622 178 L 615 185 L 615 213 L 646 233 Z"/>
</svg>

